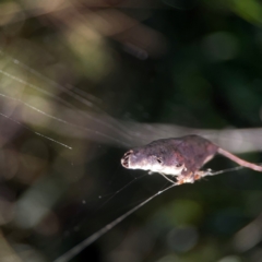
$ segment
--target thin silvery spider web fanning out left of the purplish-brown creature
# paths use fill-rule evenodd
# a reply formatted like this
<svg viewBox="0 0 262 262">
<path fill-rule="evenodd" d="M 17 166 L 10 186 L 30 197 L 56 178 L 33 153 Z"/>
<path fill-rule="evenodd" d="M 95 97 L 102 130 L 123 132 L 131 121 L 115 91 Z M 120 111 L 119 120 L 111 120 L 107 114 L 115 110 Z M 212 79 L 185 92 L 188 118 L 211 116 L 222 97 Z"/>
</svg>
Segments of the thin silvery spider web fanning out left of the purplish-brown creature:
<svg viewBox="0 0 262 262">
<path fill-rule="evenodd" d="M 10 178 L 7 176 L 7 179 L 11 179 L 11 181 L 16 180 L 24 187 L 26 184 L 21 195 L 15 200 L 17 213 L 13 219 L 16 227 L 22 231 L 32 230 L 43 236 L 57 235 L 55 241 L 57 243 L 52 243 L 56 247 L 55 249 L 59 249 L 59 245 L 69 241 L 70 238 L 74 238 L 74 235 L 79 235 L 83 230 L 83 234 L 76 238 L 78 240 L 71 245 L 72 247 L 68 248 L 68 251 L 61 257 L 59 257 L 61 251 L 52 250 L 55 255 L 59 257 L 55 260 L 56 262 L 70 261 L 136 210 L 156 196 L 159 195 L 160 198 L 163 192 L 176 186 L 167 186 L 160 176 L 158 176 L 156 184 L 154 182 L 156 176 L 153 176 L 154 179 L 147 174 L 133 177 L 138 175 L 122 170 L 120 167 L 119 160 L 124 148 L 138 143 L 138 138 L 141 143 L 146 141 L 142 134 L 132 135 L 124 124 L 108 116 L 94 102 L 73 93 L 73 88 L 68 90 L 59 86 L 3 51 L 1 56 L 7 59 L 7 63 L 0 69 L 2 75 L 0 94 L 2 112 L 0 115 L 3 117 L 2 121 L 4 121 L 2 126 L 8 127 L 10 124 L 12 130 L 12 132 L 5 133 L 5 136 L 4 133 L 2 134 L 2 145 L 3 148 L 7 147 L 3 152 L 9 152 L 10 147 L 13 151 L 15 148 L 19 156 L 23 157 L 25 155 L 28 157 L 29 165 L 36 165 L 36 170 L 37 167 L 40 168 L 39 159 L 41 157 L 47 158 L 43 152 L 55 150 L 52 154 L 56 154 L 53 157 L 56 160 L 45 159 L 51 167 L 44 168 L 45 172 L 43 171 L 44 174 L 38 175 L 38 177 L 23 177 L 23 170 L 20 170 L 20 168 L 12 176 L 9 175 Z M 51 85 L 53 90 L 47 91 L 29 83 L 20 76 L 16 72 L 17 69 L 23 69 L 28 75 L 39 78 L 40 82 Z M 4 88 L 5 85 L 9 87 L 8 90 Z M 23 87 L 15 85 L 23 85 Z M 19 92 L 17 88 L 21 88 L 21 91 Z M 75 99 L 76 105 L 82 103 L 88 109 L 85 111 L 79 109 L 73 103 L 63 98 L 61 94 L 57 94 L 58 90 L 62 94 L 66 93 L 70 99 Z M 32 92 L 34 92 L 33 95 Z M 95 99 L 99 100 L 99 98 Z M 53 109 L 55 106 L 57 106 L 56 109 Z M 52 108 L 52 110 L 49 110 L 49 108 Z M 25 139 L 23 139 L 25 142 L 17 142 L 16 145 L 13 141 L 20 140 L 19 138 L 23 135 L 25 135 Z M 132 143 L 132 139 L 134 143 Z M 110 156 L 108 144 L 118 147 L 119 153 L 114 153 L 118 157 Z M 25 148 L 20 152 L 21 146 L 22 148 L 25 146 Z M 40 153 L 34 153 L 36 151 L 40 151 Z M 106 159 L 108 157 L 110 160 Z M 99 168 L 99 162 L 106 163 L 103 164 L 106 165 L 106 168 Z M 88 165 L 90 167 L 86 168 Z M 239 168 L 206 175 L 218 175 Z M 35 174 L 33 172 L 33 175 Z M 145 179 L 146 182 L 143 182 Z M 111 192 L 108 193 L 108 190 Z M 143 192 L 133 196 L 132 190 Z M 68 196 L 70 192 L 72 192 L 71 198 Z M 111 215 L 110 213 L 115 214 Z M 100 215 L 108 215 L 108 217 L 100 219 L 100 223 L 94 223 L 99 219 L 97 217 Z M 47 228 L 47 223 L 50 222 L 53 227 L 52 230 Z M 66 229 L 59 229 L 60 223 L 66 225 Z M 91 227 L 87 224 L 91 224 Z M 97 228 L 95 233 L 93 226 Z M 61 230 L 63 233 L 59 234 Z M 84 240 L 80 241 L 81 238 Z M 48 249 L 51 249 L 50 246 Z"/>
</svg>

